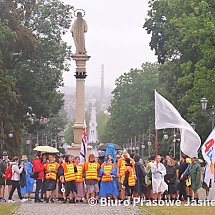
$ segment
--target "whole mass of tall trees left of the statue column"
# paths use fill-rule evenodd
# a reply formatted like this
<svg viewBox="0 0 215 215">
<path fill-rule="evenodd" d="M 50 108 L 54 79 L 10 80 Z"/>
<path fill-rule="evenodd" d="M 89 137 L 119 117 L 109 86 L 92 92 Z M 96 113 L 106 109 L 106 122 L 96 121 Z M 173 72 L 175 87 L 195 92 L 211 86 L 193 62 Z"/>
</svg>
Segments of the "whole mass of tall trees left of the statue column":
<svg viewBox="0 0 215 215">
<path fill-rule="evenodd" d="M 1 131 L 13 128 L 12 147 L 21 143 L 28 106 L 37 118 L 49 118 L 63 105 L 57 89 L 69 70 L 71 49 L 62 35 L 70 27 L 72 9 L 59 0 L 0 2 L 0 121 Z M 5 132 L 1 144 L 3 139 L 8 142 Z"/>
</svg>

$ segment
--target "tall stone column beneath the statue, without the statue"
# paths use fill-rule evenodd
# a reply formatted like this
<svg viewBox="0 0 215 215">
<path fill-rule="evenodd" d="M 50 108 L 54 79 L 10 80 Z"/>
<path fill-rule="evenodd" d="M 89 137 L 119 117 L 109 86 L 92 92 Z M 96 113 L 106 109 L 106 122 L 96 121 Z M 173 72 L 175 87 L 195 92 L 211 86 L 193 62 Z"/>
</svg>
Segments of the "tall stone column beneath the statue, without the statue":
<svg viewBox="0 0 215 215">
<path fill-rule="evenodd" d="M 74 144 L 69 149 L 69 153 L 79 156 L 81 149 L 81 141 L 85 119 L 85 78 L 86 74 L 86 61 L 90 56 L 77 54 L 73 55 L 72 59 L 76 63 L 76 104 L 75 104 L 75 123 L 74 129 Z"/>
</svg>

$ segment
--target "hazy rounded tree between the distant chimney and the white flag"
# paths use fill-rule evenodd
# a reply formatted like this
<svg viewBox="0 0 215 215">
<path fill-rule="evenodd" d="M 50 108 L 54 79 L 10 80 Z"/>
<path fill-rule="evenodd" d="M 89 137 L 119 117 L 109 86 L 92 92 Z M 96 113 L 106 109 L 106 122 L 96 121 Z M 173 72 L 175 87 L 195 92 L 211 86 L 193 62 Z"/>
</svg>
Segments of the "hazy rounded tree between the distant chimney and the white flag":
<svg viewBox="0 0 215 215">
<path fill-rule="evenodd" d="M 116 80 L 105 131 L 114 143 L 122 145 L 128 138 L 154 129 L 154 89 L 162 88 L 158 80 L 158 65 L 150 63 Z"/>
</svg>

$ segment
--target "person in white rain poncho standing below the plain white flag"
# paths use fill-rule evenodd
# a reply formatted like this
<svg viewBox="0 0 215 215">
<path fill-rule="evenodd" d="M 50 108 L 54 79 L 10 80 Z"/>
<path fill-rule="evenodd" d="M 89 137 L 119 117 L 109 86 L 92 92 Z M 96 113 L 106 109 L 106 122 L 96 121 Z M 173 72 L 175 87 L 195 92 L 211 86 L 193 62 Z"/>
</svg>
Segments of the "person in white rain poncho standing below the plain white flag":
<svg viewBox="0 0 215 215">
<path fill-rule="evenodd" d="M 155 162 L 152 164 L 152 190 L 154 195 L 154 200 L 160 200 L 161 194 L 168 189 L 167 184 L 164 181 L 164 176 L 166 175 L 166 168 L 160 162 L 160 155 L 156 156 Z"/>
</svg>

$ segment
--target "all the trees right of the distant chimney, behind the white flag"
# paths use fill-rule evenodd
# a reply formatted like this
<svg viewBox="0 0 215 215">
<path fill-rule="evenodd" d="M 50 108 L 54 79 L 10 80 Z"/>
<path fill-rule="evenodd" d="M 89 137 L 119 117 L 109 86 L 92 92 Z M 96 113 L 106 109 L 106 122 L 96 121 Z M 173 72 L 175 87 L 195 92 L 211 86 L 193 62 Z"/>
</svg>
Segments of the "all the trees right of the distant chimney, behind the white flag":
<svg viewBox="0 0 215 215">
<path fill-rule="evenodd" d="M 151 0 L 144 29 L 158 63 L 143 64 L 116 81 L 102 141 L 118 144 L 154 129 L 154 89 L 164 95 L 204 140 L 211 127 L 200 100 L 215 104 L 215 2 Z"/>
</svg>

